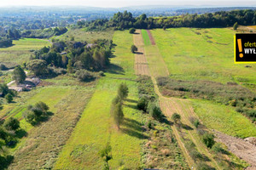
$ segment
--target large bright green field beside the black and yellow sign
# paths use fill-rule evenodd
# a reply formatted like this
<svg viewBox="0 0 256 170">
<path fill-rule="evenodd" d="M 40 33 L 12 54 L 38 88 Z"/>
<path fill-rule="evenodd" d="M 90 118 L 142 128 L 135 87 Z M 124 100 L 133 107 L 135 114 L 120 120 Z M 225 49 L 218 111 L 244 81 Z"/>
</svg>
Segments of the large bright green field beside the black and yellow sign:
<svg viewBox="0 0 256 170">
<path fill-rule="evenodd" d="M 181 80 L 256 83 L 255 65 L 234 64 L 234 35 L 228 28 L 151 31 L 171 77 Z"/>
</svg>

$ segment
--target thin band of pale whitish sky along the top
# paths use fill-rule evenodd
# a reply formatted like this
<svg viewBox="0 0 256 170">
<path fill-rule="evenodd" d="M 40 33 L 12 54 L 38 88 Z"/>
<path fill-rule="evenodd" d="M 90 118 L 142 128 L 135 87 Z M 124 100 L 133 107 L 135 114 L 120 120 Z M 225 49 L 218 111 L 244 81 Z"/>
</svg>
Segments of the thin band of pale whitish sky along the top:
<svg viewBox="0 0 256 170">
<path fill-rule="evenodd" d="M 120 8 L 141 5 L 256 6 L 256 0 L 0 0 L 0 6 L 87 6 Z"/>
</svg>

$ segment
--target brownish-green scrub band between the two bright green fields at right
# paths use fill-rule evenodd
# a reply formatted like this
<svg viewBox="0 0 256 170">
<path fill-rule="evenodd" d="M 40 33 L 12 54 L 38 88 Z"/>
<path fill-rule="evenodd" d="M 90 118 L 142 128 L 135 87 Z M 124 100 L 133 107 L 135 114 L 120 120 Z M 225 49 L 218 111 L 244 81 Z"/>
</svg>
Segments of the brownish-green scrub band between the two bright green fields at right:
<svg viewBox="0 0 256 170">
<path fill-rule="evenodd" d="M 214 100 L 224 105 L 236 107 L 236 111 L 256 120 L 256 94 L 235 82 L 181 81 L 159 77 L 158 85 L 162 94 L 182 98 Z"/>
</svg>

